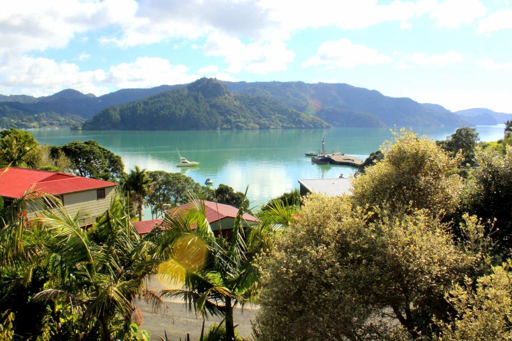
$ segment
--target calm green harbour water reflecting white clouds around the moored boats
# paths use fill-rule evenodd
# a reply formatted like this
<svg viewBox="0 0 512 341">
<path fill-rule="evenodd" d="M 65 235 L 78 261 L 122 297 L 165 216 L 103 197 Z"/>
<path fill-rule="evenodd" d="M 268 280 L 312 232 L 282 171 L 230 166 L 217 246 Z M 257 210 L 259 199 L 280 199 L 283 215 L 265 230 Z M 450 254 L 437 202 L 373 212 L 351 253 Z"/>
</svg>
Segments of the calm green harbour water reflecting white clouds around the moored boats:
<svg viewBox="0 0 512 341">
<path fill-rule="evenodd" d="M 481 141 L 503 137 L 503 125 L 478 126 Z M 445 139 L 456 128 L 413 128 L 432 139 Z M 325 138 L 328 152 L 341 151 L 364 160 L 386 140 L 388 128 L 330 128 L 289 130 L 209 130 L 209 131 L 73 131 L 33 130 L 41 144 L 62 145 L 73 140 L 96 140 L 123 158 L 128 171 L 135 165 L 148 170 L 182 172 L 200 184 L 206 178 L 214 186 L 226 184 L 247 193 L 252 206 L 267 202 L 293 188 L 298 179 L 349 176 L 355 169 L 312 164 L 304 155 L 317 150 Z M 199 167 L 176 167 L 176 150 Z M 146 210 L 147 211 L 147 210 Z M 148 212 L 145 212 L 148 217 Z M 151 214 L 149 214 L 151 216 Z"/>
</svg>

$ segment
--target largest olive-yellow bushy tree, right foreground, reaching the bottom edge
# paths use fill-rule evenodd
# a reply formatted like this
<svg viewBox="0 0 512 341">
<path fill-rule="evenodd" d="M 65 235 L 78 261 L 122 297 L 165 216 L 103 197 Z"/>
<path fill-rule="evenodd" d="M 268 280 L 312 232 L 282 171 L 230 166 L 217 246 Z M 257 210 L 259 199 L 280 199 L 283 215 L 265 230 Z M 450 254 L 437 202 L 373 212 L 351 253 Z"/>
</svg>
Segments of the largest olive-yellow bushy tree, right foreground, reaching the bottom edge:
<svg viewBox="0 0 512 341">
<path fill-rule="evenodd" d="M 457 240 L 426 210 L 390 213 L 306 198 L 262 258 L 261 339 L 411 339 L 433 332 L 433 316 L 447 319 L 446 288 L 487 267 L 483 226 L 466 216 Z"/>
</svg>

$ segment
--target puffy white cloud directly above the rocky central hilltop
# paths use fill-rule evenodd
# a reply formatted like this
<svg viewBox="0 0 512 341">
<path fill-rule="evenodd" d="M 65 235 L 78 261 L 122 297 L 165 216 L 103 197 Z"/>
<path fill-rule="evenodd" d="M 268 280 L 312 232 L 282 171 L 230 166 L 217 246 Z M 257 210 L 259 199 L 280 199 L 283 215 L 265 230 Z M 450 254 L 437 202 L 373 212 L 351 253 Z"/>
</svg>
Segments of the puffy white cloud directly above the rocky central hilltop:
<svg viewBox="0 0 512 341">
<path fill-rule="evenodd" d="M 240 39 L 214 32 L 208 36 L 203 51 L 207 56 L 224 57 L 229 64 L 226 71 L 240 73 L 247 71 L 266 74 L 286 70 L 295 53 L 286 48 L 283 41 L 244 44 Z"/>
</svg>

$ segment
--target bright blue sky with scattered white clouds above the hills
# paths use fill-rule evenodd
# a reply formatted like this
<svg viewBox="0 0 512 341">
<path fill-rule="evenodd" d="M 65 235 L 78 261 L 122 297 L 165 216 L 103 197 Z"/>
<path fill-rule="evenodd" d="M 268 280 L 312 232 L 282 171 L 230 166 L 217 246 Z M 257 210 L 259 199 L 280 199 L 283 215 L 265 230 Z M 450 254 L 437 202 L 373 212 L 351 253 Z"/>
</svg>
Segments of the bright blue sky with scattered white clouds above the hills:
<svg viewBox="0 0 512 341">
<path fill-rule="evenodd" d="M 2 0 L 0 94 L 348 83 L 512 113 L 508 0 Z"/>
</svg>

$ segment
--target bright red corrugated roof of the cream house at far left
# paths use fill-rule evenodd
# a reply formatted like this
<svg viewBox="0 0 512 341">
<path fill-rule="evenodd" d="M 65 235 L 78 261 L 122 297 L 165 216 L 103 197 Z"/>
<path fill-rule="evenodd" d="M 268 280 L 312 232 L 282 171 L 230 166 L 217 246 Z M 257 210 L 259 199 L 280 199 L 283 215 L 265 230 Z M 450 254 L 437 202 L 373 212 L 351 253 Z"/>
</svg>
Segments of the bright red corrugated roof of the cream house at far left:
<svg viewBox="0 0 512 341">
<path fill-rule="evenodd" d="M 0 196 L 19 198 L 28 190 L 66 194 L 116 186 L 109 181 L 27 168 L 0 169 Z"/>
</svg>

